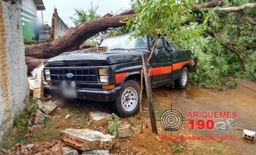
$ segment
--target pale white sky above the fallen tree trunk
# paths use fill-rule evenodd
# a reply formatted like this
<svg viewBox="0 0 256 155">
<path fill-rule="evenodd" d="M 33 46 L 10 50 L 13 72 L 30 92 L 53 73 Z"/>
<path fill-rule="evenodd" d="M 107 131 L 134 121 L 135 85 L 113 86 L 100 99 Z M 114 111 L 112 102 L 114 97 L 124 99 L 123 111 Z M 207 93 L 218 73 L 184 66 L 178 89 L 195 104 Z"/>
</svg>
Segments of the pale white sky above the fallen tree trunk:
<svg viewBox="0 0 256 155">
<path fill-rule="evenodd" d="M 69 19 L 69 17 L 75 18 L 74 9 L 83 9 L 87 11 L 88 9 L 91 9 L 92 2 L 93 8 L 98 6 L 96 13 L 103 16 L 111 11 L 116 13 L 120 9 L 119 12 L 130 9 L 130 1 L 131 0 L 43 0 L 46 9 L 43 11 L 43 21 L 44 24 L 51 25 L 52 13 L 55 6 L 58 16 L 62 21 L 68 24 L 68 27 L 74 27 L 75 24 Z M 37 19 L 42 23 L 41 11 L 37 11 Z"/>
</svg>

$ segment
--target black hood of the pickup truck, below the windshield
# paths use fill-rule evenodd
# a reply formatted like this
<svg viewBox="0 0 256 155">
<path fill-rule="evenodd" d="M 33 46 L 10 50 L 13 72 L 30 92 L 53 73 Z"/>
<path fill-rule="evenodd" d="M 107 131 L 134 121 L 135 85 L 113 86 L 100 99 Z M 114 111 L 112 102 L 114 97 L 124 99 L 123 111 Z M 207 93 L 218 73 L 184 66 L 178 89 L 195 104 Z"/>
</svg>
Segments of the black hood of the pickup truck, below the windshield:
<svg viewBox="0 0 256 155">
<path fill-rule="evenodd" d="M 45 62 L 47 64 L 64 63 L 97 63 L 103 65 L 118 64 L 125 62 L 142 61 L 142 54 L 147 50 L 111 51 L 98 53 L 70 53 L 53 57 Z"/>
</svg>

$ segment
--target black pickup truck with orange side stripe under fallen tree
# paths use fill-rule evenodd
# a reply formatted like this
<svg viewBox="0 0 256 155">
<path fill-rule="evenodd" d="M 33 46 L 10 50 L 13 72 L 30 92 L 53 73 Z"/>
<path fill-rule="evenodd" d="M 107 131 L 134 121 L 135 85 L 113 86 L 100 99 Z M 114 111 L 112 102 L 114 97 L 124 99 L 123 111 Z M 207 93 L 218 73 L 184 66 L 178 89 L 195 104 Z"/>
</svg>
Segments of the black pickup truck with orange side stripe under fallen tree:
<svg viewBox="0 0 256 155">
<path fill-rule="evenodd" d="M 154 39 L 149 35 L 135 39 L 131 35 L 103 39 L 98 49 L 105 52 L 71 53 L 47 60 L 45 92 L 111 102 L 122 117 L 136 114 L 140 108 L 142 54 L 149 57 Z M 193 64 L 190 51 L 175 51 L 161 37 L 149 63 L 152 88 L 174 81 L 177 89 L 184 89 Z"/>
</svg>

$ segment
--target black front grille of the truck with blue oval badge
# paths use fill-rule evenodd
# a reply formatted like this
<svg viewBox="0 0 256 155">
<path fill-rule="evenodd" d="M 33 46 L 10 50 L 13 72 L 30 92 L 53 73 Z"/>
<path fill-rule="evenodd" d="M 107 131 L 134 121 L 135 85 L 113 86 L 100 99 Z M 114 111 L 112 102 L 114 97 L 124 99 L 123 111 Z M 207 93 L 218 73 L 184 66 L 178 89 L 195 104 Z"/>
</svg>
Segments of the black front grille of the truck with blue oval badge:
<svg viewBox="0 0 256 155">
<path fill-rule="evenodd" d="M 51 82 L 75 81 L 81 83 L 98 83 L 98 72 L 95 68 L 45 68 L 50 70 Z M 67 77 L 67 74 L 73 77 Z"/>
</svg>

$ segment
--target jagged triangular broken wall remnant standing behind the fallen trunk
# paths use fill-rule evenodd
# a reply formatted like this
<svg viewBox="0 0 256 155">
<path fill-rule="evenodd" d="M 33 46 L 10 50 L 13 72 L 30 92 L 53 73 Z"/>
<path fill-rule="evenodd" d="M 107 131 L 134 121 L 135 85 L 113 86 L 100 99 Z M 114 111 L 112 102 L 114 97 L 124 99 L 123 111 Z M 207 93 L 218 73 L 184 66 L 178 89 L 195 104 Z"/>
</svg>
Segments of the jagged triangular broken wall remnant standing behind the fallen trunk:
<svg viewBox="0 0 256 155">
<path fill-rule="evenodd" d="M 57 9 L 54 9 L 51 19 L 51 38 L 50 41 L 61 37 L 66 32 L 69 32 L 70 28 L 60 19 Z"/>
</svg>

